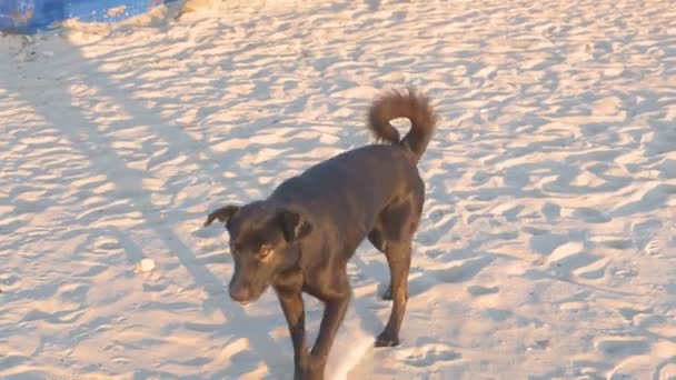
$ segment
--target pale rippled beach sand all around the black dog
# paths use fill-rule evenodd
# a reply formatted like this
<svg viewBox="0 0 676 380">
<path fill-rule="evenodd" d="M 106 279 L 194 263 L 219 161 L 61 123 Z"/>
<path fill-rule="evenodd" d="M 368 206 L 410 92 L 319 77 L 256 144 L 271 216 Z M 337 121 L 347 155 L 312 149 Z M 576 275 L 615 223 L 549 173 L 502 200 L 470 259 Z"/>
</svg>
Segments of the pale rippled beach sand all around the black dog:
<svg viewBox="0 0 676 380">
<path fill-rule="evenodd" d="M 443 120 L 401 346 L 371 348 L 365 243 L 329 374 L 676 379 L 673 1 L 225 3 L 0 38 L 0 378 L 289 379 L 277 300 L 230 301 L 200 223 L 415 84 Z"/>
</svg>

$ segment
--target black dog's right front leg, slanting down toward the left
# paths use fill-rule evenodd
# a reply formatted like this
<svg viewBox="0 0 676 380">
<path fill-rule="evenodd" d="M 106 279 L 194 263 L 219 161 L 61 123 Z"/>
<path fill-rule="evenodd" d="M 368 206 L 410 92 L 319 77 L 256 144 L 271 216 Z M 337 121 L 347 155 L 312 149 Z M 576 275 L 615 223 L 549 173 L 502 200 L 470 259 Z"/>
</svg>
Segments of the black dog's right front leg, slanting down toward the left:
<svg viewBox="0 0 676 380">
<path fill-rule="evenodd" d="M 336 332 L 345 318 L 345 312 L 349 304 L 349 288 L 346 287 L 340 297 L 325 301 L 319 334 L 308 358 L 307 379 L 324 379 L 324 368 L 334 344 Z"/>
</svg>

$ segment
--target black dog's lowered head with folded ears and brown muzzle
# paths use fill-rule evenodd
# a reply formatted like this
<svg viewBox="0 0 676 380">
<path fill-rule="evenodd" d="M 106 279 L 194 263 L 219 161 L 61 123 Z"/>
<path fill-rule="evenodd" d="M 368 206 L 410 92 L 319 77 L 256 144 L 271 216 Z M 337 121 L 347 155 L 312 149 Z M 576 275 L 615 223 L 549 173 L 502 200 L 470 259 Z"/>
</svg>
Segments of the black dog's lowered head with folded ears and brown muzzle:
<svg viewBox="0 0 676 380">
<path fill-rule="evenodd" d="M 230 234 L 230 298 L 242 304 L 256 301 L 277 273 L 298 262 L 296 243 L 312 231 L 300 213 L 265 202 L 226 206 L 211 212 L 205 226 L 213 220 L 225 222 Z"/>
</svg>

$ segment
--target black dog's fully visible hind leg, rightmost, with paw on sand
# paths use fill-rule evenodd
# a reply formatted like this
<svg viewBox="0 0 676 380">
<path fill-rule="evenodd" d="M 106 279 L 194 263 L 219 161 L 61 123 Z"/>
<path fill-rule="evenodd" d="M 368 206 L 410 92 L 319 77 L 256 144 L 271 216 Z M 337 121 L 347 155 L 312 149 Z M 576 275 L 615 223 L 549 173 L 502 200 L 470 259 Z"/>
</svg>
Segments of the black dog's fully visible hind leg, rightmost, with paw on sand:
<svg viewBox="0 0 676 380">
<path fill-rule="evenodd" d="M 376 347 L 399 344 L 399 329 L 408 301 L 408 271 L 410 269 L 411 242 L 386 243 L 386 257 L 390 272 L 392 311 L 382 332 L 376 339 Z"/>
</svg>

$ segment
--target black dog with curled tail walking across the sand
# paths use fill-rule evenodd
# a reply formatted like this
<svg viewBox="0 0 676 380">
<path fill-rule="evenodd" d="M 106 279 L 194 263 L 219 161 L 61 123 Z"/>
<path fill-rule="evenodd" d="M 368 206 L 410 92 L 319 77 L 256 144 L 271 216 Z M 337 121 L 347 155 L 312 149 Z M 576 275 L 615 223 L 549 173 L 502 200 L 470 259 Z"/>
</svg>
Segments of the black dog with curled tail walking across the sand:
<svg viewBox="0 0 676 380">
<path fill-rule="evenodd" d="M 396 118 L 411 122 L 404 139 L 389 123 Z M 230 297 L 246 304 L 268 286 L 277 292 L 294 343 L 295 379 L 324 378 L 350 298 L 347 261 L 366 237 L 387 257 L 390 283 L 384 297 L 394 300 L 376 347 L 399 344 L 411 242 L 425 202 L 417 162 L 435 123 L 427 98 L 414 90 L 390 92 L 368 114 L 369 129 L 388 144 L 338 154 L 286 180 L 266 200 L 226 206 L 207 218 L 205 226 L 218 219 L 230 234 Z M 302 292 L 325 303 L 311 351 L 305 342 Z"/>
</svg>

